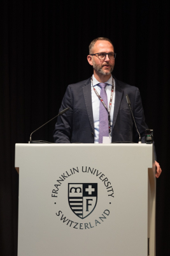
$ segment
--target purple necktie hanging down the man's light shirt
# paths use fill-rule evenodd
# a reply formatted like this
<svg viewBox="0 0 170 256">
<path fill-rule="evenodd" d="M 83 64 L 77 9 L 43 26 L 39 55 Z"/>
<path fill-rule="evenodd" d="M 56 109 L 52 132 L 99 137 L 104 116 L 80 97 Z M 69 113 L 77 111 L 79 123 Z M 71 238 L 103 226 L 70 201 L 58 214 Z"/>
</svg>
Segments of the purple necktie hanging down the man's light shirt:
<svg viewBox="0 0 170 256">
<path fill-rule="evenodd" d="M 101 98 L 108 107 L 108 97 L 105 91 L 106 83 L 99 83 L 101 87 Z M 104 108 L 103 103 L 100 102 L 100 111 L 99 111 L 99 143 L 103 143 L 103 136 L 109 136 L 109 127 L 108 127 L 108 111 Z"/>
</svg>

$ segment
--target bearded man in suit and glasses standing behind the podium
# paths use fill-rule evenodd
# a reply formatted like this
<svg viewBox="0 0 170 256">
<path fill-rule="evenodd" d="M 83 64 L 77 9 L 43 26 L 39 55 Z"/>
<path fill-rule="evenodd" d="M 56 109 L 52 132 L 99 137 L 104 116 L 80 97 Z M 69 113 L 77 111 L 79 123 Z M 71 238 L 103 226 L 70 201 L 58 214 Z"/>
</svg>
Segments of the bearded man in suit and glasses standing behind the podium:
<svg viewBox="0 0 170 256">
<path fill-rule="evenodd" d="M 59 116 L 53 138 L 55 143 L 103 143 L 115 141 L 138 142 L 126 95 L 142 142 L 145 142 L 145 116 L 139 89 L 111 76 L 115 65 L 115 52 L 108 38 L 99 37 L 89 45 L 87 60 L 94 69 L 92 77 L 67 87 L 60 110 L 69 107 Z M 108 122 L 108 116 L 110 117 Z M 159 163 L 156 177 L 162 170 Z"/>
</svg>

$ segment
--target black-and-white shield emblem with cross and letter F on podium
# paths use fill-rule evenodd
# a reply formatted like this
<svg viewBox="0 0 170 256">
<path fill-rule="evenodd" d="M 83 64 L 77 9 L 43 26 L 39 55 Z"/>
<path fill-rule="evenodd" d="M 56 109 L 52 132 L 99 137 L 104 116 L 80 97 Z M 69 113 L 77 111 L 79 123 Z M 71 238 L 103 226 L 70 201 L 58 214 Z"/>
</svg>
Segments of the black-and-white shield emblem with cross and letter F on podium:
<svg viewBox="0 0 170 256">
<path fill-rule="evenodd" d="M 97 204 L 97 183 L 69 183 L 68 200 L 74 214 L 86 218 Z"/>
</svg>

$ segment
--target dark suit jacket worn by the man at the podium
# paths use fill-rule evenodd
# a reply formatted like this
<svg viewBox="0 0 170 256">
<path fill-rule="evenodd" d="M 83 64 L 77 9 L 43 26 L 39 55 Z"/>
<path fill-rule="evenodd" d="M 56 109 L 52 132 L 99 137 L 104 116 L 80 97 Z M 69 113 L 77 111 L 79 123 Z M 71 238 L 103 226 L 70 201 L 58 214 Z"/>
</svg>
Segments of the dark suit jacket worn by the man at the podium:
<svg viewBox="0 0 170 256">
<path fill-rule="evenodd" d="M 115 77 L 114 77 L 115 78 Z M 143 106 L 139 89 L 115 78 L 115 109 L 112 125 L 112 141 L 134 141 L 138 143 L 131 111 L 126 95 L 131 100 L 131 108 L 136 120 L 142 142 L 145 142 L 145 123 Z M 92 96 L 90 78 L 80 83 L 67 86 L 60 111 L 70 109 L 59 116 L 55 125 L 53 138 L 55 143 L 94 143 L 94 120 L 92 113 Z"/>
</svg>

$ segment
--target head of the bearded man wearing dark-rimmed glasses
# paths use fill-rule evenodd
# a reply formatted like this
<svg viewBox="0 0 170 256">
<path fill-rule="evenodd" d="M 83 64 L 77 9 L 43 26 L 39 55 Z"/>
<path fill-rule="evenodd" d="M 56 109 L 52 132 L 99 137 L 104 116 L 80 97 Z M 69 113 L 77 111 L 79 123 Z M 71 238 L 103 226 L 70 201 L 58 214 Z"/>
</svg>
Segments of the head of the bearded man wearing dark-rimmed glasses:
<svg viewBox="0 0 170 256">
<path fill-rule="evenodd" d="M 103 52 L 104 54 L 98 54 Z M 96 78 L 107 76 L 110 77 L 115 65 L 114 47 L 110 39 L 98 37 L 89 45 L 89 55 L 87 60 L 94 68 Z"/>
</svg>

